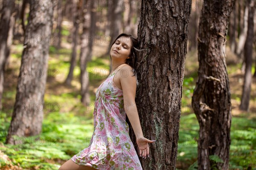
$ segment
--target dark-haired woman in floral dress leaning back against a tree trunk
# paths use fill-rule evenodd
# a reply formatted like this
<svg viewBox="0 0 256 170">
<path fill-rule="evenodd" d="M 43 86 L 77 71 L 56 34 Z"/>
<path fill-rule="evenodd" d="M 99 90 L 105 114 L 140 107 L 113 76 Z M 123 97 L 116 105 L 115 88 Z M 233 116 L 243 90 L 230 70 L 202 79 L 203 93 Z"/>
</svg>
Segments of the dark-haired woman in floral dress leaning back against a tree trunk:
<svg viewBox="0 0 256 170">
<path fill-rule="evenodd" d="M 135 103 L 137 39 L 120 34 L 111 45 L 111 73 L 96 91 L 94 131 L 88 147 L 65 162 L 59 170 L 142 170 L 129 136 L 125 113 L 136 135 L 139 154 L 149 156 Z"/>
</svg>

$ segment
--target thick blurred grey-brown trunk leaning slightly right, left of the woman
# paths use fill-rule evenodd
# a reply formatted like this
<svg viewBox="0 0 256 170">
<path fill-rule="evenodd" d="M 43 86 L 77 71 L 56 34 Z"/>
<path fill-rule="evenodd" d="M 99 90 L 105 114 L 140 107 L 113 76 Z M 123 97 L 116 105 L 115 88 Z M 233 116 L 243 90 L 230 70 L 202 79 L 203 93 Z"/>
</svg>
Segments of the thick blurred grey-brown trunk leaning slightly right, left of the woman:
<svg viewBox="0 0 256 170">
<path fill-rule="evenodd" d="M 38 10 L 36 4 L 39 3 L 48 7 L 49 0 L 34 0 L 30 6 L 15 107 L 6 137 L 6 143 L 9 144 L 17 144 L 18 139 L 14 136 L 35 136 L 41 133 L 52 8 Z"/>
</svg>

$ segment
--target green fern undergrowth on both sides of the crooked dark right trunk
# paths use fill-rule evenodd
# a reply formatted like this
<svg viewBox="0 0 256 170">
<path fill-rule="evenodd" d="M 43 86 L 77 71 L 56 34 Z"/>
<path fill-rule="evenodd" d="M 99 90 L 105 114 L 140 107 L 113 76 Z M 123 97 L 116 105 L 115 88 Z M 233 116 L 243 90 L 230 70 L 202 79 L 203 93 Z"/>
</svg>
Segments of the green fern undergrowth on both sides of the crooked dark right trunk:
<svg viewBox="0 0 256 170">
<path fill-rule="evenodd" d="M 189 166 L 197 160 L 198 131 L 195 114 L 181 115 L 177 161 Z M 233 117 L 230 136 L 230 169 L 256 169 L 256 120 Z"/>
</svg>

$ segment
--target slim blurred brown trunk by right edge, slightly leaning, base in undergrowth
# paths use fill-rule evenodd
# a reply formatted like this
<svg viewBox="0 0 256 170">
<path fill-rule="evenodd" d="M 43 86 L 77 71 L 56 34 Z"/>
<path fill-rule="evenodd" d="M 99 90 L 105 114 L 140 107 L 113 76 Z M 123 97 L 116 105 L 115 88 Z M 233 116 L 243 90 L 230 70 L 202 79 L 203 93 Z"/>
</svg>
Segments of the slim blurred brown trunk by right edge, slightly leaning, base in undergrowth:
<svg viewBox="0 0 256 170">
<path fill-rule="evenodd" d="M 248 16 L 248 30 L 247 38 L 244 44 L 244 60 L 245 60 L 245 74 L 244 74 L 244 85 L 243 93 L 241 98 L 240 109 L 244 111 L 249 111 L 250 103 L 250 91 L 251 91 L 251 81 L 252 81 L 252 52 L 253 52 L 253 16 L 255 14 L 255 2 L 254 0 L 247 0 L 249 6 L 249 16 Z"/>
</svg>

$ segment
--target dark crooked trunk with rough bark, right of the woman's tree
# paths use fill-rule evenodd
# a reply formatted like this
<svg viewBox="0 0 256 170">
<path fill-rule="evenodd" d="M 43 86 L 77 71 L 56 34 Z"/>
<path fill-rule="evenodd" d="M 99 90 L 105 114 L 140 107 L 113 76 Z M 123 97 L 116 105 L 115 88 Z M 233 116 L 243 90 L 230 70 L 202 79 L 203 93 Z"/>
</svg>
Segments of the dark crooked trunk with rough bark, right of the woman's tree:
<svg viewBox="0 0 256 170">
<path fill-rule="evenodd" d="M 234 0 L 204 0 L 198 34 L 198 80 L 192 107 L 198 119 L 198 169 L 209 170 L 209 156 L 219 156 L 228 169 L 231 102 L 226 67 L 225 37 Z"/>
</svg>

